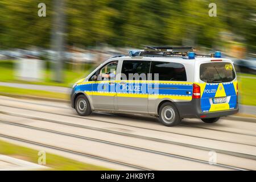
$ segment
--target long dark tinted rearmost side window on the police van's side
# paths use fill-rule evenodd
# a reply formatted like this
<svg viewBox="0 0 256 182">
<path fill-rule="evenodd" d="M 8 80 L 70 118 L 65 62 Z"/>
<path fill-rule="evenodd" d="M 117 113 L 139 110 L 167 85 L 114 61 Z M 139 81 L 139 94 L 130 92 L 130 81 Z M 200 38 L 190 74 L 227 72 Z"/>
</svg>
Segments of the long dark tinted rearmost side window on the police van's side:
<svg viewBox="0 0 256 182">
<path fill-rule="evenodd" d="M 158 73 L 160 81 L 187 81 L 185 67 L 180 63 L 152 61 L 151 73 L 153 80 L 157 80 L 154 74 Z"/>
</svg>

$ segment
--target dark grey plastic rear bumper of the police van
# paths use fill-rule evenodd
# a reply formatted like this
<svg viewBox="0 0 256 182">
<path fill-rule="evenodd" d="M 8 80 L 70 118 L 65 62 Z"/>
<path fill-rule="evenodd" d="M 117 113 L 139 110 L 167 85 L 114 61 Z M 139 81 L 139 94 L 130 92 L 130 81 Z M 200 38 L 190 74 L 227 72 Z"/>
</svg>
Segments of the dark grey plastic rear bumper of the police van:
<svg viewBox="0 0 256 182">
<path fill-rule="evenodd" d="M 236 114 L 239 111 L 238 104 L 235 109 L 203 112 L 201 110 L 201 100 L 193 99 L 190 102 L 176 102 L 176 107 L 179 110 L 181 118 L 217 118 L 227 115 Z"/>
</svg>

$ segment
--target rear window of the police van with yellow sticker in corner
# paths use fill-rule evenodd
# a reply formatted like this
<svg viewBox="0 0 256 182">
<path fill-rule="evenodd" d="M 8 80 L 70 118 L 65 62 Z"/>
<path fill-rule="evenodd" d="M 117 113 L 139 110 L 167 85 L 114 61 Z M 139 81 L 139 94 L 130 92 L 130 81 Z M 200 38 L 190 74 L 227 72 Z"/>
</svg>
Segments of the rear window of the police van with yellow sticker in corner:
<svg viewBox="0 0 256 182">
<path fill-rule="evenodd" d="M 204 63 L 200 65 L 200 79 L 207 83 L 230 82 L 236 78 L 231 63 Z"/>
</svg>

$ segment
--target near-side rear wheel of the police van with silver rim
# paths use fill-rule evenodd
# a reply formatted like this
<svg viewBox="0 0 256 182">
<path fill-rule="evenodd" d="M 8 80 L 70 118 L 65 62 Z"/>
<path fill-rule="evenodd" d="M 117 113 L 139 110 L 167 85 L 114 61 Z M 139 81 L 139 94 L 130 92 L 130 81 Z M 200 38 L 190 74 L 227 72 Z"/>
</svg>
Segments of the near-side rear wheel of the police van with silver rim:
<svg viewBox="0 0 256 182">
<path fill-rule="evenodd" d="M 165 126 L 176 126 L 181 121 L 177 108 L 171 102 L 166 102 L 160 106 L 159 120 Z"/>
</svg>

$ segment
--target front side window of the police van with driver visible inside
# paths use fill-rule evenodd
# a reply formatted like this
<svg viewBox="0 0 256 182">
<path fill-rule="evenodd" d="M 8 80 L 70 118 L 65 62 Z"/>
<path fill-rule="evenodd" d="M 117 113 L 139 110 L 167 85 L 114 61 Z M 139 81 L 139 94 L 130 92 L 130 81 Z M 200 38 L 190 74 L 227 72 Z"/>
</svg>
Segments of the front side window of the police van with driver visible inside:
<svg viewBox="0 0 256 182">
<path fill-rule="evenodd" d="M 115 80 L 115 75 L 117 72 L 117 65 L 118 65 L 118 61 L 113 61 L 113 62 L 105 65 L 104 67 L 100 68 L 93 76 L 98 74 L 98 75 L 96 75 L 98 81 Z M 92 80 L 92 77 L 90 77 L 89 80 Z"/>
</svg>

